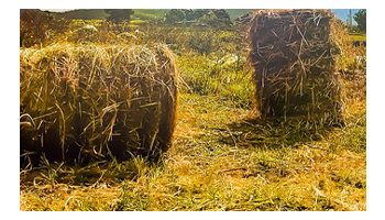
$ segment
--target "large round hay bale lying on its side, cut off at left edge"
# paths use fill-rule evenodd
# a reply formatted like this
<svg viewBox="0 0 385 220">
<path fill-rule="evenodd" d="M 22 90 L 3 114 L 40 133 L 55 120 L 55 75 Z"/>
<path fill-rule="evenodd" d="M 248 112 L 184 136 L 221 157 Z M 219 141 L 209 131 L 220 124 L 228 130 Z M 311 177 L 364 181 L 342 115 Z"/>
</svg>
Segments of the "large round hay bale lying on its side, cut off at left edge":
<svg viewBox="0 0 385 220">
<path fill-rule="evenodd" d="M 175 58 L 165 45 L 20 51 L 21 154 L 30 158 L 156 158 L 172 144 L 176 106 Z"/>
</svg>

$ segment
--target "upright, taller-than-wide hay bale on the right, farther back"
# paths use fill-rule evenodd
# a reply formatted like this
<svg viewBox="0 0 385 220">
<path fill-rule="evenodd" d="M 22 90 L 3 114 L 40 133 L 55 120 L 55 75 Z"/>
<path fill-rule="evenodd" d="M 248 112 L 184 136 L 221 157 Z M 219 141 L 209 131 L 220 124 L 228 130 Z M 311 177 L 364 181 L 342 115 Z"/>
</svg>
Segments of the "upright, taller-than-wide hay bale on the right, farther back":
<svg viewBox="0 0 385 220">
<path fill-rule="evenodd" d="M 343 96 L 336 74 L 343 31 L 330 10 L 260 10 L 248 32 L 256 107 L 262 118 L 340 124 Z"/>
</svg>

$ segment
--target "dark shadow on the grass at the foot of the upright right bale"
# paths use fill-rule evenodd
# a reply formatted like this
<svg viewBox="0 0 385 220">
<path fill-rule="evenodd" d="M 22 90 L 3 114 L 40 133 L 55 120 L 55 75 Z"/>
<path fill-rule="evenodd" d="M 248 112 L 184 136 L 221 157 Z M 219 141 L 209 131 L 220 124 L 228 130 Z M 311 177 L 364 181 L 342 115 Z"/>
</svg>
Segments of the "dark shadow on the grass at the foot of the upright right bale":
<svg viewBox="0 0 385 220">
<path fill-rule="evenodd" d="M 276 118 L 244 119 L 217 129 L 220 142 L 237 147 L 277 150 L 282 147 L 298 148 L 302 144 L 320 141 L 340 125 L 323 125 L 292 118 L 278 121 Z"/>
</svg>

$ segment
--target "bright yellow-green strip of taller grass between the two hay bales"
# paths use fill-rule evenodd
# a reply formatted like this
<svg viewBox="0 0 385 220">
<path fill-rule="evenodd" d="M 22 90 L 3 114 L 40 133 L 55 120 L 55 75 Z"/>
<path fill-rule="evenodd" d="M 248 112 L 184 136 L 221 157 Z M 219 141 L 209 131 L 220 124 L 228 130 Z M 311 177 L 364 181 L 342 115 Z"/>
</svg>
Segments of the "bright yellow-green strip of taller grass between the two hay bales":
<svg viewBox="0 0 385 220">
<path fill-rule="evenodd" d="M 199 95 L 215 95 L 249 108 L 253 100 L 251 70 L 246 57 L 183 54 L 178 57 L 182 89 Z M 187 85 L 187 86 L 186 86 Z"/>
</svg>

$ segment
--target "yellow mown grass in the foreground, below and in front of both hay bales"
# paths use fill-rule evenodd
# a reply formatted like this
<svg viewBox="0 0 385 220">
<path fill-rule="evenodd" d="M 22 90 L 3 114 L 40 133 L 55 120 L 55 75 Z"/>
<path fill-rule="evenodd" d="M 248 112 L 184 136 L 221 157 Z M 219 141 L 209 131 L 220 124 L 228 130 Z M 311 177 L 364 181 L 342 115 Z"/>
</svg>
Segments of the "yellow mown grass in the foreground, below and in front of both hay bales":
<svg viewBox="0 0 385 220">
<path fill-rule="evenodd" d="M 21 210 L 366 210 L 365 99 L 344 129 L 258 124 L 217 96 L 182 94 L 174 146 L 86 167 L 21 170 Z"/>
</svg>

